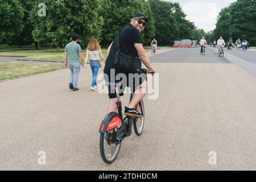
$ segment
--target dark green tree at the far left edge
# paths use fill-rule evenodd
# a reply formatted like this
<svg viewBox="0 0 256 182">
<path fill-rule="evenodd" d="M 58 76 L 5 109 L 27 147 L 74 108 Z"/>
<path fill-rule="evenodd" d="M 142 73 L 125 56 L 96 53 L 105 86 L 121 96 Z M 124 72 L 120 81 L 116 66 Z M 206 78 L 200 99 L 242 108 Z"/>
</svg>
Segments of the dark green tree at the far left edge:
<svg viewBox="0 0 256 182">
<path fill-rule="evenodd" d="M 2 0 L 0 3 L 0 44 L 11 44 L 23 30 L 22 6 L 18 0 Z"/>
</svg>

